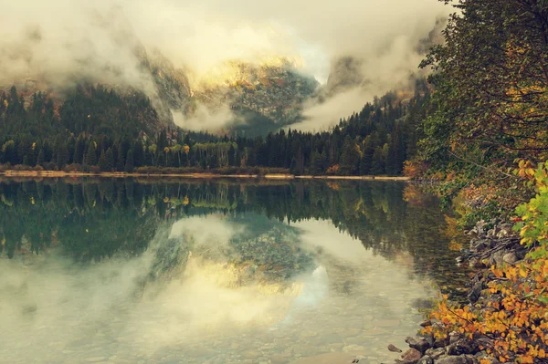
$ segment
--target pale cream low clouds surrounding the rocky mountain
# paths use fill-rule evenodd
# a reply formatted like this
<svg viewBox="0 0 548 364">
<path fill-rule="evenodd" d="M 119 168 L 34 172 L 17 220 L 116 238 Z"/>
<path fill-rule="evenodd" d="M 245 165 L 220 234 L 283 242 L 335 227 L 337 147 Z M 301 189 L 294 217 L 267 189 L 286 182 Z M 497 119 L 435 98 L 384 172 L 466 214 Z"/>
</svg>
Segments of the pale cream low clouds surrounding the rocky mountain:
<svg viewBox="0 0 548 364">
<path fill-rule="evenodd" d="M 307 109 L 303 127 L 318 129 L 371 95 L 405 82 L 420 60 L 417 44 L 448 11 L 435 0 L 8 2 L 0 23 L 0 87 L 31 78 L 47 88 L 63 88 L 84 78 L 156 97 L 153 80 L 142 68 L 144 55 L 153 49 L 184 69 L 191 87 L 234 59 L 259 63 L 288 57 L 320 82 L 328 80 L 342 57 L 358 59 L 361 66 L 349 77 L 359 80 L 361 95 L 332 99 L 345 108 Z M 364 99 L 358 103 L 358 97 Z M 190 119 L 175 115 L 179 125 L 192 130 L 222 128 L 231 118 L 227 108 L 212 111 L 204 105 Z"/>
</svg>

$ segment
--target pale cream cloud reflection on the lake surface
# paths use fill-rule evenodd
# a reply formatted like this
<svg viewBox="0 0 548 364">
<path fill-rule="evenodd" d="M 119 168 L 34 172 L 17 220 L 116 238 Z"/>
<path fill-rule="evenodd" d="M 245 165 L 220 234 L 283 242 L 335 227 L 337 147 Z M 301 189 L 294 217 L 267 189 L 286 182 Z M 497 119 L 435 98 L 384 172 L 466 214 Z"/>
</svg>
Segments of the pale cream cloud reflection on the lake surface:
<svg viewBox="0 0 548 364">
<path fill-rule="evenodd" d="M 217 214 L 187 218 L 160 232 L 139 257 L 92 265 L 75 265 L 60 255 L 0 260 L 0 327 L 10 333 L 0 340 L 0 352 L 14 363 L 68 357 L 79 362 L 90 356 L 133 360 L 157 350 L 184 350 L 193 342 L 217 342 L 223 352 L 234 344 L 252 348 L 267 339 L 261 335 L 269 329 L 297 342 L 305 329 L 329 328 L 344 336 L 354 327 L 348 335 L 355 336 L 386 325 L 387 317 L 396 326 L 416 320 L 411 305 L 425 295 L 425 283 L 413 280 L 406 265 L 374 256 L 327 222 L 302 222 L 298 235 L 286 234 L 317 262 L 298 276 L 266 280 L 264 267 L 235 264 L 228 258 L 237 254 L 232 242 L 243 232 L 252 235 L 252 223 L 235 224 Z M 279 244 L 265 241 L 264 234 L 254 238 L 258 244 Z M 158 245 L 174 239 L 191 246 L 184 269 L 143 287 L 154 255 L 162 251 Z M 210 254 L 216 246 L 222 247 L 217 253 L 227 254 L 224 259 Z M 325 346 L 330 338 L 310 340 Z"/>
</svg>

